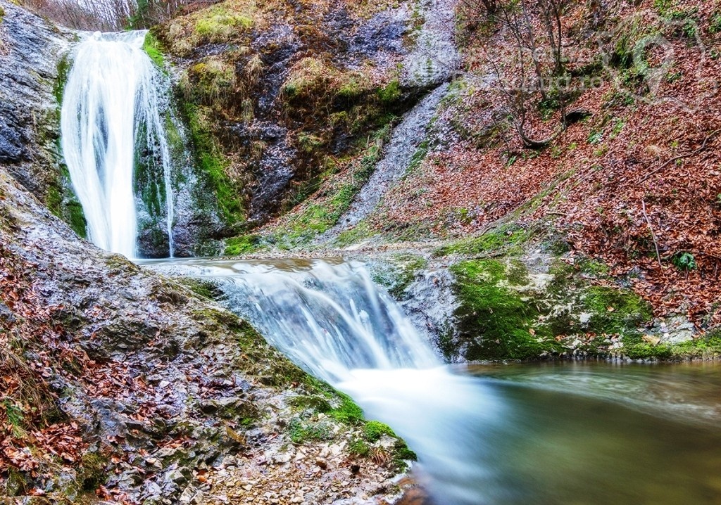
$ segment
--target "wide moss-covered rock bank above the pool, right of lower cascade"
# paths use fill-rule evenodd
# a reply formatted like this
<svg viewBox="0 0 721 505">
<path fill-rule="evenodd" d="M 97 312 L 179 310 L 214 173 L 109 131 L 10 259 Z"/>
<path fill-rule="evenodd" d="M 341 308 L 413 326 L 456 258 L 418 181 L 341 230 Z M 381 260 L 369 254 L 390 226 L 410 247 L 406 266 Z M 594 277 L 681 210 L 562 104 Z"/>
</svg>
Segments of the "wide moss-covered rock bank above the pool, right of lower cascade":
<svg viewBox="0 0 721 505">
<path fill-rule="evenodd" d="M 467 359 L 540 359 L 608 353 L 611 337 L 624 342 L 622 352 L 638 357 L 650 349 L 639 328 L 653 318 L 650 305 L 630 290 L 590 285 L 606 278 L 608 268 L 590 259 L 578 264 L 556 260 L 542 285 L 517 259 L 479 259 L 451 266 L 459 300 L 459 339 L 441 337 L 440 347 L 453 357 L 458 347 Z M 573 343 L 570 347 L 569 344 Z"/>
</svg>

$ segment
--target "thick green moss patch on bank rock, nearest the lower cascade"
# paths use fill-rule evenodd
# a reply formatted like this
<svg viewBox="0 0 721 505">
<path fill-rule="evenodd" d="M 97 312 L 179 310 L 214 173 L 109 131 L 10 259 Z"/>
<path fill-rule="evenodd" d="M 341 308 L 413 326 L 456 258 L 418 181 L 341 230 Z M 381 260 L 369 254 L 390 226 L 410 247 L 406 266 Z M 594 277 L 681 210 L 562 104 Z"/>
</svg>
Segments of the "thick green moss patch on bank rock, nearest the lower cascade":
<svg viewBox="0 0 721 505">
<path fill-rule="evenodd" d="M 467 359 L 534 359 L 562 352 L 550 331 L 536 326 L 539 308 L 503 285 L 503 263 L 461 262 L 451 272 L 460 303 L 455 312 L 459 334 L 469 343 Z"/>
</svg>

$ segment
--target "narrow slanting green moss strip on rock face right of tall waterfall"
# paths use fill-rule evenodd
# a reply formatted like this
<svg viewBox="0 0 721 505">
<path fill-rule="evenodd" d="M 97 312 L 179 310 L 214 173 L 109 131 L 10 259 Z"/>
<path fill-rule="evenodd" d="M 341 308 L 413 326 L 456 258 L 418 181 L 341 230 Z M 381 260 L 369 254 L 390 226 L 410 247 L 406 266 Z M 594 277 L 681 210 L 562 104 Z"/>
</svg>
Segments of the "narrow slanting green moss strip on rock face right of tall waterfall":
<svg viewBox="0 0 721 505">
<path fill-rule="evenodd" d="M 200 107 L 193 104 L 185 104 L 185 115 L 193 140 L 196 164 L 216 195 L 222 218 L 229 225 L 242 222 L 244 205 L 239 197 L 239 190 L 226 175 L 229 161 L 213 137 L 211 125 Z"/>
</svg>

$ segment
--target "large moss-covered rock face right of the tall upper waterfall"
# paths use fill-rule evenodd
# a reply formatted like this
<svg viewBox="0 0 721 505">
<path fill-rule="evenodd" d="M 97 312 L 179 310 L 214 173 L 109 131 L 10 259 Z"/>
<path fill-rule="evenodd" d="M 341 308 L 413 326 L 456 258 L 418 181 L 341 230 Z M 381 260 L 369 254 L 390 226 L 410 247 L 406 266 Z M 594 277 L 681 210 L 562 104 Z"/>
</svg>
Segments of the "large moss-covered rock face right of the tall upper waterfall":
<svg viewBox="0 0 721 505">
<path fill-rule="evenodd" d="M 401 86 L 395 67 L 379 68 L 372 51 L 342 56 L 348 23 L 359 27 L 385 8 L 392 6 L 226 0 L 154 30 L 183 58 L 180 97 L 224 236 L 306 200 L 415 103 L 417 90 Z M 347 19 L 342 28 L 335 15 Z M 354 194 L 340 188 L 332 206 Z M 333 221 L 337 212 L 311 208 L 306 218 Z"/>
</svg>

